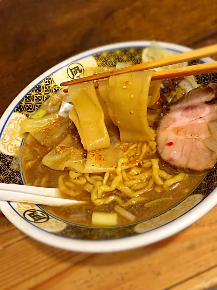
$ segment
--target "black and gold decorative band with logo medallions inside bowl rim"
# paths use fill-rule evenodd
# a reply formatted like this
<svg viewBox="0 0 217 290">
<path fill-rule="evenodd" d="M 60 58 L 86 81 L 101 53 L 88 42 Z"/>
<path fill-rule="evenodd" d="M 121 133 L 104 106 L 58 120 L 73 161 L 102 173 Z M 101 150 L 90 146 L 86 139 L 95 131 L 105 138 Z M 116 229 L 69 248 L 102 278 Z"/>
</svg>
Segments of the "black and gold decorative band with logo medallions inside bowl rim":
<svg viewBox="0 0 217 290">
<path fill-rule="evenodd" d="M 20 168 L 13 166 L 13 164 L 15 164 L 13 160 L 17 160 L 17 150 L 22 142 L 22 139 L 19 137 L 20 122 L 39 108 L 50 95 L 59 90 L 60 82 L 71 79 L 73 75 L 77 76 L 82 67 L 84 69 L 90 66 L 108 67 L 115 66 L 117 62 L 141 63 L 142 60 L 144 60 L 144 50 L 144 47 L 130 47 L 94 53 L 93 55 L 74 61 L 73 64 L 67 63 L 63 67 L 58 68 L 55 72 L 52 72 L 35 87 L 31 88 L 18 102 L 14 110 L 11 111 L 0 133 L 0 182 L 18 184 L 24 182 L 22 174 L 20 173 Z M 74 63 L 78 63 L 77 68 Z M 200 61 L 191 61 L 190 65 L 197 63 L 200 63 Z M 186 65 L 186 63 L 183 65 Z M 69 66 L 71 74 L 67 72 Z M 74 68 L 76 68 L 76 70 L 73 72 Z M 217 76 L 213 73 L 196 77 L 200 84 L 217 82 Z M 174 221 L 209 196 L 216 185 L 217 170 L 214 168 L 206 175 L 200 185 L 178 205 L 146 221 L 109 228 L 86 227 L 72 224 L 53 216 L 38 205 L 9 201 L 8 204 L 12 211 L 19 214 L 27 222 L 46 232 L 60 237 L 70 237 L 81 240 L 107 240 L 138 235 Z"/>
</svg>

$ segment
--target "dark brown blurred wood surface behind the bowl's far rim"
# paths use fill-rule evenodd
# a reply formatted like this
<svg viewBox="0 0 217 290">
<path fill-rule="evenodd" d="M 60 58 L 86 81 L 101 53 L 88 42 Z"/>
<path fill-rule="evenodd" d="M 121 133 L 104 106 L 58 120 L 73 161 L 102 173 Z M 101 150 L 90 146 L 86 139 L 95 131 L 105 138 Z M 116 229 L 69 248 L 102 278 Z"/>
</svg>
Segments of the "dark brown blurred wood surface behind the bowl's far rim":
<svg viewBox="0 0 217 290">
<path fill-rule="evenodd" d="M 0 67 L 4 73 L 0 95 L 8 94 L 0 115 L 33 79 L 92 47 L 152 39 L 190 46 L 200 43 L 216 32 L 216 10 L 217 2 L 211 0 L 206 5 L 203 0 L 156 0 L 155 5 L 131 0 L 124 4 L 121 0 L 93 0 L 88 5 L 86 0 L 65 0 L 64 5 L 57 0 L 52 4 L 48 0 L 1 1 L 0 42 L 4 46 L 0 47 Z"/>
</svg>

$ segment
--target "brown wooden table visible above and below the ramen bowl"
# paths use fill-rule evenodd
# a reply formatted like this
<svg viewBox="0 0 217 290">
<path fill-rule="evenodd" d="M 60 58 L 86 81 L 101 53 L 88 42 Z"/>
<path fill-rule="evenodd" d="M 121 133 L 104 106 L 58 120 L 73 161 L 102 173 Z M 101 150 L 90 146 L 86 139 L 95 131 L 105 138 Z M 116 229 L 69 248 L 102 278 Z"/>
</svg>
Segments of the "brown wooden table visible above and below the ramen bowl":
<svg viewBox="0 0 217 290">
<path fill-rule="evenodd" d="M 2 0 L 0 114 L 41 73 L 99 45 L 162 40 L 216 43 L 213 0 Z M 120 253 L 55 249 L 0 213 L 0 289 L 188 290 L 217 285 L 216 207 L 164 241 Z"/>
</svg>

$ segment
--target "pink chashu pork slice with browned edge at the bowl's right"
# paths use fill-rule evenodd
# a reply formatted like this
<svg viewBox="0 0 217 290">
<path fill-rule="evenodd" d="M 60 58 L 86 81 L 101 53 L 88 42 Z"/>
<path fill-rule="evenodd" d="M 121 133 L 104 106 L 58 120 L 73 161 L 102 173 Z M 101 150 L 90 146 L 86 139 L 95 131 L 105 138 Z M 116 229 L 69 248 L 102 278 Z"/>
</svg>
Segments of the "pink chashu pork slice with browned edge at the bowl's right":
<svg viewBox="0 0 217 290">
<path fill-rule="evenodd" d="M 160 121 L 158 151 L 162 159 L 177 168 L 203 171 L 215 166 L 217 152 L 206 147 L 208 124 L 217 120 L 215 85 L 202 85 L 184 95 Z"/>
</svg>

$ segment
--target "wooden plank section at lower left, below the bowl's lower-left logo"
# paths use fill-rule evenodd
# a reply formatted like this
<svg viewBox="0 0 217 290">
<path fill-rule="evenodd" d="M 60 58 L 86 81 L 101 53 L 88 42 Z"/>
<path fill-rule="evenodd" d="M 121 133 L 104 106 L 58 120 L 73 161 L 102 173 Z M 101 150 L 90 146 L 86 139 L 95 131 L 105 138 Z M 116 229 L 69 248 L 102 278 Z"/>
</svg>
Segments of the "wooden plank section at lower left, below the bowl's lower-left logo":
<svg viewBox="0 0 217 290">
<path fill-rule="evenodd" d="M 91 254 L 75 253 L 43 245 L 27 238 L 0 251 L 1 290 L 30 289 L 73 267 Z"/>
</svg>

